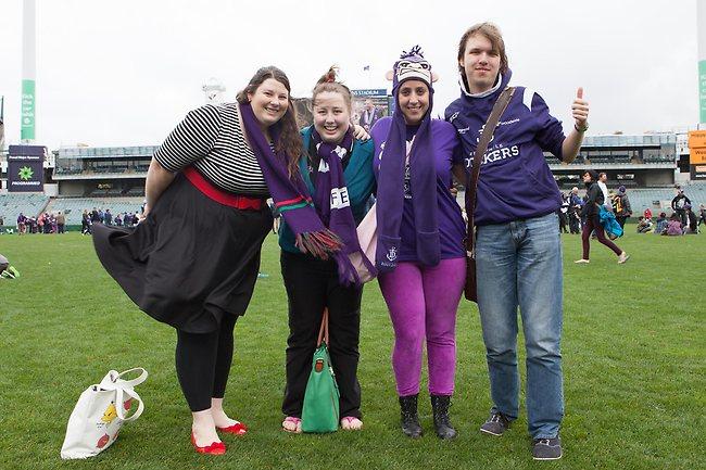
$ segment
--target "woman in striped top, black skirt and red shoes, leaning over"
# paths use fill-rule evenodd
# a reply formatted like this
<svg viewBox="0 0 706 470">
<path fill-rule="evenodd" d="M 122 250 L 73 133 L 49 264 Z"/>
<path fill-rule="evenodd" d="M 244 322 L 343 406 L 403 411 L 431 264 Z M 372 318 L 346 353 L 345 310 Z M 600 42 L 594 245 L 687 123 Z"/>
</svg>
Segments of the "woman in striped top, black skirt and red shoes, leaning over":
<svg viewBox="0 0 706 470">
<path fill-rule="evenodd" d="M 263 154 L 280 156 L 290 175 L 301 155 L 289 93 L 287 76 L 264 67 L 237 103 L 188 113 L 154 153 L 146 218 L 136 229 L 96 227 L 96 251 L 109 274 L 142 310 L 177 330 L 176 370 L 199 453 L 226 452 L 217 430 L 247 432 L 225 414 L 223 397 L 232 330 L 252 296 L 273 223 L 265 199 L 276 180 L 263 173 L 269 165 Z"/>
</svg>

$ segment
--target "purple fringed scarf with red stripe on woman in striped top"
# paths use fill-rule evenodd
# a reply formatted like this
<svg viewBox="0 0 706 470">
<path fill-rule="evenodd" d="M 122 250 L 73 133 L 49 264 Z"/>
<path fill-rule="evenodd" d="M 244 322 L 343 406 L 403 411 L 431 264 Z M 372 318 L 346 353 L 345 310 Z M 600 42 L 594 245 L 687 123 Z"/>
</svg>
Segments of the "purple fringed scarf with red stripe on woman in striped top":
<svg viewBox="0 0 706 470">
<path fill-rule="evenodd" d="M 324 226 L 316 214 L 300 173 L 289 177 L 288 155 L 283 151 L 275 153 L 269 147 L 250 103 L 240 103 L 240 115 L 275 207 L 297 236 L 297 247 L 322 259 L 336 256 L 342 249 L 342 241 Z M 280 127 L 280 123 L 269 127 L 274 142 L 279 141 Z"/>
</svg>

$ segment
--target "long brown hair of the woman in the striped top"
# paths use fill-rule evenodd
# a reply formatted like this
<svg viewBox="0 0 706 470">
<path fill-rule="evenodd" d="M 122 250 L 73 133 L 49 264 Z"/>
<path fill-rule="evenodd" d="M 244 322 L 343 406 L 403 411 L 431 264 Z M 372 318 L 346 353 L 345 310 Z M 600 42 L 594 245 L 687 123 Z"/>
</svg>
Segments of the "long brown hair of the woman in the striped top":
<svg viewBox="0 0 706 470">
<path fill-rule="evenodd" d="M 297 125 L 297 111 L 294 111 L 294 105 L 292 104 L 291 87 L 287 75 L 274 65 L 262 67 L 255 72 L 255 75 L 250 79 L 248 86 L 243 90 L 239 91 L 236 98 L 241 104 L 248 103 L 248 94 L 254 93 L 267 78 L 274 78 L 287 88 L 287 112 L 281 119 L 279 119 L 279 123 L 281 123 L 281 130 L 275 150 L 277 152 L 283 151 L 287 153 L 287 156 L 289 157 L 287 169 L 289 172 L 289 177 L 291 178 L 297 174 L 297 172 L 299 172 L 299 158 L 302 154 L 302 138 L 299 134 L 299 126 Z"/>
</svg>

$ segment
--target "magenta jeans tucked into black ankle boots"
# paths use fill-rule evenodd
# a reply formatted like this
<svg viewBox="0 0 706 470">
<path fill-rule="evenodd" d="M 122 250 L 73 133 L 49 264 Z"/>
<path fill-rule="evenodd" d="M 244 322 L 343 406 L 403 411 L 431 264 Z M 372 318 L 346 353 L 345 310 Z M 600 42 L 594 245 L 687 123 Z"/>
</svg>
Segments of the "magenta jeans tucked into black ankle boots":
<svg viewBox="0 0 706 470">
<path fill-rule="evenodd" d="M 398 395 L 419 393 L 425 340 L 429 393 L 452 395 L 456 371 L 456 309 L 466 281 L 466 259 L 443 259 L 434 267 L 400 263 L 378 280 L 394 328 L 392 368 Z"/>
</svg>

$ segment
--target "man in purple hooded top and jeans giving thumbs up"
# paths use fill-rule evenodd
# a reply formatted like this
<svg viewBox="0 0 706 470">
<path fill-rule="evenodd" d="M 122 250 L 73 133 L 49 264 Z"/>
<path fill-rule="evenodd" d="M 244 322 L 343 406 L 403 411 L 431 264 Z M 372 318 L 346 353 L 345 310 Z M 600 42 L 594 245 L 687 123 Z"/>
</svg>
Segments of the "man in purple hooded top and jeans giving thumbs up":
<svg viewBox="0 0 706 470">
<path fill-rule="evenodd" d="M 470 27 L 458 45 L 462 94 L 445 112 L 470 168 L 480 132 L 512 72 L 497 27 Z M 528 429 L 538 460 L 562 457 L 562 195 L 543 152 L 571 162 L 588 129 L 589 104 L 578 89 L 575 129 L 565 136 L 544 100 L 517 87 L 483 155 L 475 211 L 478 308 L 493 407 L 481 425 L 501 435 L 519 414 L 517 307 L 527 348 Z"/>
</svg>

